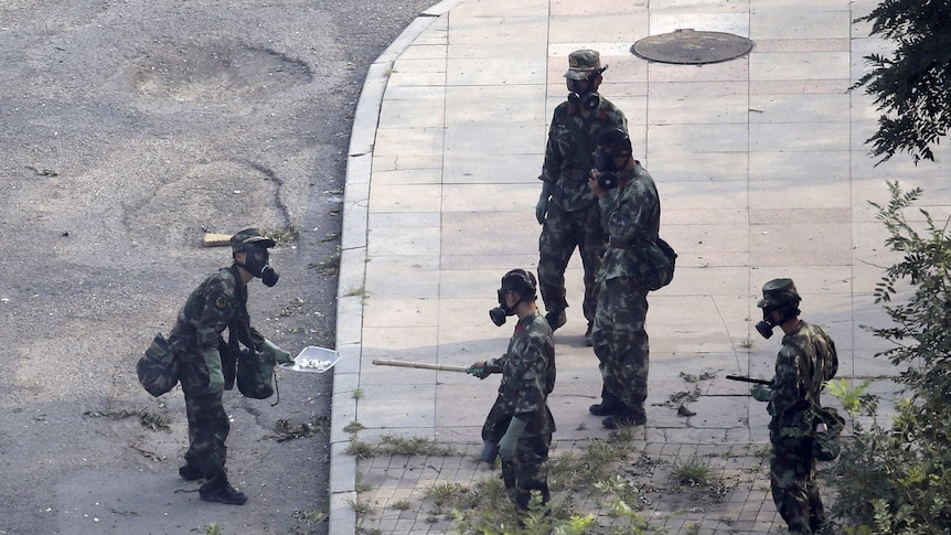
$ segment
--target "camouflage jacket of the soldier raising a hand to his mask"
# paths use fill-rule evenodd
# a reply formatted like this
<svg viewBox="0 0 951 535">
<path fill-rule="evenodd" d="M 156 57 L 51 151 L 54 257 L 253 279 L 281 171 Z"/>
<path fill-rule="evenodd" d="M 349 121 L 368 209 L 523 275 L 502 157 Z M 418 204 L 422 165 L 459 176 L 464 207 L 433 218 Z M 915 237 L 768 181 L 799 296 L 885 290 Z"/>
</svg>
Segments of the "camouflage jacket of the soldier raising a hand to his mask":
<svg viewBox="0 0 951 535">
<path fill-rule="evenodd" d="M 639 275 L 639 248 L 653 243 L 660 232 L 661 199 L 654 179 L 637 161 L 633 170 L 620 174 L 620 185 L 598 201 L 609 238 L 598 282 Z"/>
</svg>

